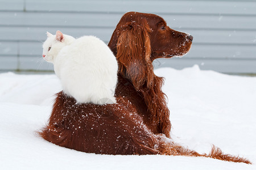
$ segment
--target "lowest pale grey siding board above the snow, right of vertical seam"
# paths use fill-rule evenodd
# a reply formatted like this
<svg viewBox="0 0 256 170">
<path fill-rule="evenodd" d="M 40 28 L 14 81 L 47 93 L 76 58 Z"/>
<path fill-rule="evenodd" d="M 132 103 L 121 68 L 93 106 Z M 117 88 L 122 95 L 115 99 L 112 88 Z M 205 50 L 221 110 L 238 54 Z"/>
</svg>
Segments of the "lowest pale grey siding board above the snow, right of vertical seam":
<svg viewBox="0 0 256 170">
<path fill-rule="evenodd" d="M 199 65 L 201 70 L 216 70 L 222 73 L 256 73 L 256 60 L 225 60 L 225 59 L 187 59 L 187 58 L 169 58 L 158 59 L 154 62 L 155 69 L 159 67 L 172 67 L 174 69 L 183 69 Z M 235 69 L 234 69 L 235 68 Z M 35 59 L 35 57 L 20 58 L 20 70 L 53 70 L 53 65 Z"/>
</svg>

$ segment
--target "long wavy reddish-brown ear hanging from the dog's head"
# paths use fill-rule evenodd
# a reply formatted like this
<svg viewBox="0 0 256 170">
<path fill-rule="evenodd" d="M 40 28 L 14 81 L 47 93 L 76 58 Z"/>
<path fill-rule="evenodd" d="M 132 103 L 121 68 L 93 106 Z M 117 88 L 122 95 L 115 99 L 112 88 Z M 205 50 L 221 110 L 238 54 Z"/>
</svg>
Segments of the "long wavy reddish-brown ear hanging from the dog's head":
<svg viewBox="0 0 256 170">
<path fill-rule="evenodd" d="M 131 80 L 136 90 L 145 83 L 146 88 L 150 88 L 154 68 L 150 59 L 150 28 L 146 20 L 142 20 L 141 24 L 130 22 L 119 25 L 119 30 L 116 55 L 119 72 Z"/>
</svg>

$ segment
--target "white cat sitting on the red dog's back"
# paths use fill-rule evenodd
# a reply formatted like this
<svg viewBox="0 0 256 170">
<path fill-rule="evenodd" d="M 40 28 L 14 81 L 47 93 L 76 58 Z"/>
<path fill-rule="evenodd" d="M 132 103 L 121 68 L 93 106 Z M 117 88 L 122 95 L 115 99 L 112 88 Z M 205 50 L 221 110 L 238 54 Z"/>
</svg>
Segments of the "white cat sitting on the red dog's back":
<svg viewBox="0 0 256 170">
<path fill-rule="evenodd" d="M 64 93 L 77 103 L 116 103 L 117 59 L 97 37 L 75 39 L 60 31 L 56 35 L 47 32 L 43 57 L 53 63 Z"/>
</svg>

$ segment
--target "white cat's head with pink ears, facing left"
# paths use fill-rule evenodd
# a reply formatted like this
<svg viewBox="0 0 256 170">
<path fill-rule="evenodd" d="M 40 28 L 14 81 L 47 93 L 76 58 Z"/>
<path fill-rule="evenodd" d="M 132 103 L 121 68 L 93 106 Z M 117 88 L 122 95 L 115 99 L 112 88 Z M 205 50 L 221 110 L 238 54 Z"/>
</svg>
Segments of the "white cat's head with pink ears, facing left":
<svg viewBox="0 0 256 170">
<path fill-rule="evenodd" d="M 60 31 L 56 31 L 56 35 L 52 35 L 47 32 L 47 39 L 43 44 L 43 58 L 47 62 L 54 63 L 54 59 L 59 54 L 60 50 L 69 45 L 75 40 L 74 37 L 69 35 L 64 35 Z"/>
</svg>

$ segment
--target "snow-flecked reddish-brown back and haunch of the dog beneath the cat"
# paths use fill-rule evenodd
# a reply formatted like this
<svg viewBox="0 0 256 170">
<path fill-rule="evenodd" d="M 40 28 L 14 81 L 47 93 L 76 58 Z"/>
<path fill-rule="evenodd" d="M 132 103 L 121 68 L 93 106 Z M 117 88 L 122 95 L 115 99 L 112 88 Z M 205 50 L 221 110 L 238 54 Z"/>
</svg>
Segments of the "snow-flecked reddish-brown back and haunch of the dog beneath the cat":
<svg viewBox="0 0 256 170">
<path fill-rule="evenodd" d="M 157 138 L 143 124 L 129 101 L 117 104 L 76 104 L 57 94 L 49 124 L 39 133 L 56 145 L 82 152 L 112 155 L 158 154 Z"/>
</svg>

